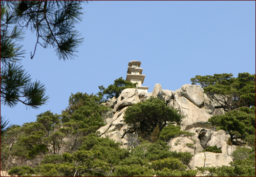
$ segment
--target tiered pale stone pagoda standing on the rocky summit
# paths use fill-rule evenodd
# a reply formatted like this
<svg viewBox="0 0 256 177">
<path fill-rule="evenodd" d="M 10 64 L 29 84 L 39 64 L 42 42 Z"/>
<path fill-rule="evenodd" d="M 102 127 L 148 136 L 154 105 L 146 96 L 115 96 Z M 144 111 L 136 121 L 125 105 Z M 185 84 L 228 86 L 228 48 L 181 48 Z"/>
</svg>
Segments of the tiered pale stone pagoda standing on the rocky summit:
<svg viewBox="0 0 256 177">
<path fill-rule="evenodd" d="M 138 93 L 145 92 L 147 94 L 148 86 L 141 86 L 141 84 L 144 81 L 145 75 L 142 74 L 142 68 L 140 67 L 141 62 L 140 61 L 130 61 L 128 64 L 128 70 L 127 70 L 127 76 L 126 81 L 130 81 L 133 83 L 138 83 L 135 89 L 138 90 Z"/>
</svg>

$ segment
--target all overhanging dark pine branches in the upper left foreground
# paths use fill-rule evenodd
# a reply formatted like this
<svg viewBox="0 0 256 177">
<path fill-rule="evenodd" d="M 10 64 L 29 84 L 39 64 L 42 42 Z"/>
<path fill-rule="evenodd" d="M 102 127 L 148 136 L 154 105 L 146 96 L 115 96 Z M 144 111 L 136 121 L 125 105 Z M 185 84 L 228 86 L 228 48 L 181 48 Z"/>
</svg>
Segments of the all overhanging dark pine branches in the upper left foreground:
<svg viewBox="0 0 256 177">
<path fill-rule="evenodd" d="M 30 75 L 18 65 L 25 51 L 18 41 L 25 29 L 36 34 L 36 47 L 53 47 L 59 59 L 72 59 L 82 41 L 75 30 L 81 20 L 82 1 L 2 1 L 1 2 L 1 103 L 14 107 L 22 102 L 38 108 L 45 104 L 45 87 L 31 82 Z"/>
</svg>

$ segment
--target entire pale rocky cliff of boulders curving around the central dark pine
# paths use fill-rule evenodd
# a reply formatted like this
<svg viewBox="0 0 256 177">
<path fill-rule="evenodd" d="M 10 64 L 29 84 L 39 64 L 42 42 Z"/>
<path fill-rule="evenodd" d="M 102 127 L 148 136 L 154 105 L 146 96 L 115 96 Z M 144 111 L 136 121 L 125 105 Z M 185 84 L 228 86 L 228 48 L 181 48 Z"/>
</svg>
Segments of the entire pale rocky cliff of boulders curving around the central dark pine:
<svg viewBox="0 0 256 177">
<path fill-rule="evenodd" d="M 181 121 L 181 130 L 195 133 L 194 136 L 170 139 L 169 150 L 190 152 L 195 155 L 190 162 L 191 169 L 195 169 L 196 166 L 229 166 L 229 162 L 232 161 L 231 153 L 236 150 L 236 146 L 227 144 L 230 137 L 227 131 L 215 131 L 215 128 L 212 128 L 208 122 L 211 116 L 225 114 L 224 109 L 219 108 L 218 102 L 203 93 L 200 85 L 185 84 L 174 92 L 162 90 L 161 85 L 156 84 L 153 92 L 147 94 L 138 94 L 136 89 L 123 90 L 118 99 L 113 98 L 106 103 L 113 107 L 114 116 L 107 118 L 108 124 L 98 129 L 99 136 L 120 142 L 123 148 L 136 143 L 137 135 L 127 133 L 130 127 L 124 123 L 125 109 L 150 96 L 159 97 L 165 101 L 166 105 L 179 109 L 179 114 L 184 116 Z M 206 147 L 215 145 L 222 150 L 222 153 L 202 152 Z"/>
</svg>

